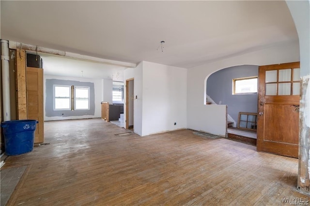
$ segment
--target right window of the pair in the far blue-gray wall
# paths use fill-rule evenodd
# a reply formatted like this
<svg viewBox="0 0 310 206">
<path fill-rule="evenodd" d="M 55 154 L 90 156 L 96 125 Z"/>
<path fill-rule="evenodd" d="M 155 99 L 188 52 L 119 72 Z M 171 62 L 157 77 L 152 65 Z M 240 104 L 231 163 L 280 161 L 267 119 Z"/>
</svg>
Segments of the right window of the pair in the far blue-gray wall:
<svg viewBox="0 0 310 206">
<path fill-rule="evenodd" d="M 89 87 L 75 87 L 75 109 L 89 109 Z"/>
</svg>

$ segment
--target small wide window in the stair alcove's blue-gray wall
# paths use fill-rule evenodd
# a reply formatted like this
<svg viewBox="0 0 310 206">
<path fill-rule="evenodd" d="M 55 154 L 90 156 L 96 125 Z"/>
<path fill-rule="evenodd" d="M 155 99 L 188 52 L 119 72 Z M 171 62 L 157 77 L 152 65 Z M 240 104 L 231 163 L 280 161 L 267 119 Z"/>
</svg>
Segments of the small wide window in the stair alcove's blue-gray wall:
<svg viewBox="0 0 310 206">
<path fill-rule="evenodd" d="M 257 93 L 257 76 L 233 79 L 233 94 Z"/>
</svg>

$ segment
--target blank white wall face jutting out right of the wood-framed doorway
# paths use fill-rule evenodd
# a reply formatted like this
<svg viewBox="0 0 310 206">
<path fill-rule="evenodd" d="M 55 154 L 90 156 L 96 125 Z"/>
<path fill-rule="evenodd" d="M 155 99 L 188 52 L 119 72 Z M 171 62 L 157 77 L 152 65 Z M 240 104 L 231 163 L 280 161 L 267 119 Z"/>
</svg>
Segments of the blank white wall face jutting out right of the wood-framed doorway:
<svg viewBox="0 0 310 206">
<path fill-rule="evenodd" d="M 142 136 L 186 128 L 187 70 L 147 61 L 142 65 Z"/>
</svg>

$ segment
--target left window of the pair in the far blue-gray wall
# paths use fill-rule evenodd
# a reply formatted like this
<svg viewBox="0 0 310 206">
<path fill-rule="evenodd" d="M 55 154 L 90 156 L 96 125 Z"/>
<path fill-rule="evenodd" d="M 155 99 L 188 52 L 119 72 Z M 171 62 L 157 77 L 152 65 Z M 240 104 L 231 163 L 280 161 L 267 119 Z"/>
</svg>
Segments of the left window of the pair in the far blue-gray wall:
<svg viewBox="0 0 310 206">
<path fill-rule="evenodd" d="M 54 110 L 71 109 L 71 86 L 54 85 Z"/>
</svg>

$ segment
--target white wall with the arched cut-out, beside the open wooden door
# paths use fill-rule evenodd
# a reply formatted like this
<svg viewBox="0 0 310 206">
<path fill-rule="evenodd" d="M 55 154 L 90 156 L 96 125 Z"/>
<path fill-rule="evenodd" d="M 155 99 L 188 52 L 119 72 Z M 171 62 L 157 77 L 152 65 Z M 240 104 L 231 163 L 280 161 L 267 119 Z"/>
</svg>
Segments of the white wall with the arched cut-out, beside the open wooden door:
<svg viewBox="0 0 310 206">
<path fill-rule="evenodd" d="M 211 62 L 188 69 L 187 128 L 217 135 L 226 135 L 225 105 L 205 105 L 206 79 L 223 68 L 237 65 L 269 65 L 299 61 L 298 41 L 279 44 L 267 49 Z M 226 112 L 225 112 L 226 113 Z"/>
</svg>

